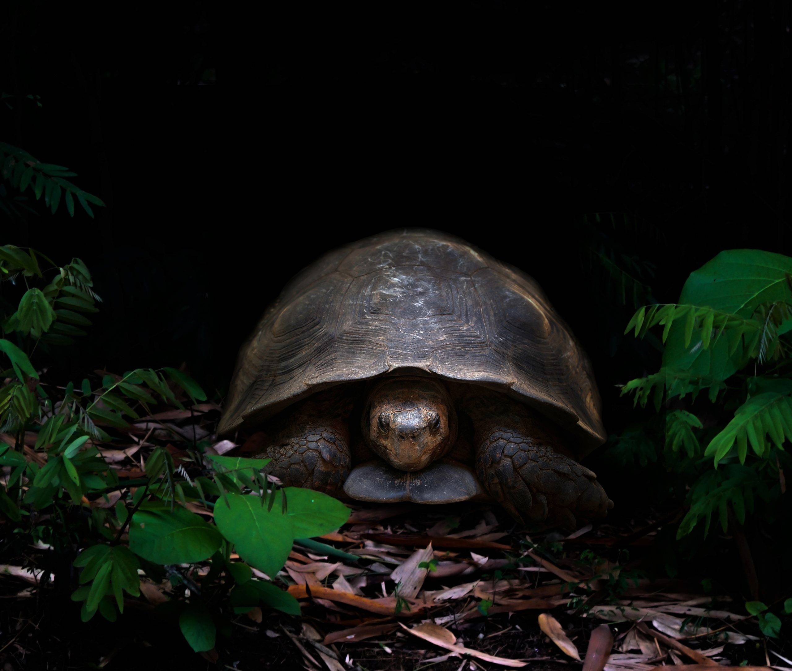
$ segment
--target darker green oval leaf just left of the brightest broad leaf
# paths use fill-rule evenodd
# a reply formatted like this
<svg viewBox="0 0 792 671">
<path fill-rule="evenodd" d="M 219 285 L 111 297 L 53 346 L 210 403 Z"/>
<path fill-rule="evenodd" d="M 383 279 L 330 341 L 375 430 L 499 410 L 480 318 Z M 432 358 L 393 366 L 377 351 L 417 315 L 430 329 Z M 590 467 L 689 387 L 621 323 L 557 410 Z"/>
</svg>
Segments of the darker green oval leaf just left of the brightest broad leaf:
<svg viewBox="0 0 792 671">
<path fill-rule="evenodd" d="M 145 503 L 129 525 L 129 549 L 155 564 L 200 562 L 222 543 L 215 527 L 181 505 L 171 510 L 158 501 Z"/>
</svg>

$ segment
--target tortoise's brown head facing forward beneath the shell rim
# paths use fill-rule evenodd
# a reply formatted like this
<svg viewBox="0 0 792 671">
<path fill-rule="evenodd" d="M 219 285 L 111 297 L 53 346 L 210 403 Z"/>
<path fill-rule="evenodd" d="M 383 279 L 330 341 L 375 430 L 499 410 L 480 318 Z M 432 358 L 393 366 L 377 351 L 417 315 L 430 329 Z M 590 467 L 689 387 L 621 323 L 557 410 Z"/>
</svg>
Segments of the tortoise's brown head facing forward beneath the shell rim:
<svg viewBox="0 0 792 671">
<path fill-rule="evenodd" d="M 362 421 L 371 450 L 402 471 L 420 471 L 456 440 L 456 412 L 436 379 L 383 379 L 371 389 Z"/>
</svg>

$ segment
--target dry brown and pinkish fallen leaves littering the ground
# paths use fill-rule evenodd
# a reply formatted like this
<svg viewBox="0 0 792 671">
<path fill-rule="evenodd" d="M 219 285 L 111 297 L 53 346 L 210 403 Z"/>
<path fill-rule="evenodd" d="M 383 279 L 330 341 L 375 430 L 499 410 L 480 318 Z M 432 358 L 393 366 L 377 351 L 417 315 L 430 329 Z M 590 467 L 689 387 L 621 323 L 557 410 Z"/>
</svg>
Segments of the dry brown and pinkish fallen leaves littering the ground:
<svg viewBox="0 0 792 671">
<path fill-rule="evenodd" d="M 131 425 L 127 444 L 97 447 L 125 478 L 144 475 L 157 441 L 166 442 L 177 466 L 189 461 L 187 447 L 196 439 L 208 455 L 240 452 L 232 441 L 215 439 L 216 410 L 167 409 Z M 35 440 L 25 436 L 25 444 Z M 86 503 L 109 507 L 119 495 Z M 628 575 L 615 563 L 623 547 L 650 547 L 657 524 L 649 520 L 645 534 L 588 524 L 564 537 L 527 532 L 494 505 L 347 505 L 347 524 L 318 539 L 321 546 L 295 543 L 272 577 L 300 600 L 302 621 L 261 608 L 236 620 L 261 631 L 265 645 L 294 646 L 305 669 L 561 669 L 579 665 L 581 656 L 584 671 L 705 669 L 732 665 L 743 657 L 741 646 L 760 642 L 756 619 L 729 595 L 703 594 L 690 581 Z M 189 507 L 211 516 L 200 502 Z M 590 548 L 613 561 L 588 560 Z M 199 564 L 191 577 L 200 584 L 206 573 Z M 28 567 L 3 565 L 0 576 L 37 583 Z M 139 600 L 148 608 L 162 604 L 169 586 L 142 576 Z M 31 596 L 29 588 L 16 592 Z M 774 664 L 764 654 L 766 666 L 743 669 L 790 669 L 788 650 L 785 657 L 773 645 L 767 650 Z"/>
</svg>

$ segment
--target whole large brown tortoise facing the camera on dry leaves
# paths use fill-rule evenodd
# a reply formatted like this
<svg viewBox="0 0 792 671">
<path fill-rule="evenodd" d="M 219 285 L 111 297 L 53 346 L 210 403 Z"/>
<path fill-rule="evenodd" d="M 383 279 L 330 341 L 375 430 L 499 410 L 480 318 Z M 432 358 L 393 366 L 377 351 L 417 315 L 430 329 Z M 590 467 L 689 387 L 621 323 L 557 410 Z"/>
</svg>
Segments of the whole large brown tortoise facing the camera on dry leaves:
<svg viewBox="0 0 792 671">
<path fill-rule="evenodd" d="M 467 242 L 389 231 L 287 284 L 242 346 L 219 435 L 272 475 L 360 501 L 494 500 L 574 528 L 613 504 L 587 356 L 539 285 Z"/>
</svg>

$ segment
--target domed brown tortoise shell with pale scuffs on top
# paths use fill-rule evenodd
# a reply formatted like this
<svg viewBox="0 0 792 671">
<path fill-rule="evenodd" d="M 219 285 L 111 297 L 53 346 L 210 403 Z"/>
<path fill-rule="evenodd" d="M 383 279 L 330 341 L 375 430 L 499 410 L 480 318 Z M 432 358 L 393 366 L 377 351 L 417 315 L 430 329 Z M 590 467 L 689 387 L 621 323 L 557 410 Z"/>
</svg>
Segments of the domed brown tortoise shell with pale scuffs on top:
<svg viewBox="0 0 792 671">
<path fill-rule="evenodd" d="M 437 231 L 388 231 L 321 257 L 242 345 L 219 433 L 316 391 L 386 374 L 493 387 L 578 440 L 605 440 L 587 356 L 535 280 Z"/>
</svg>

